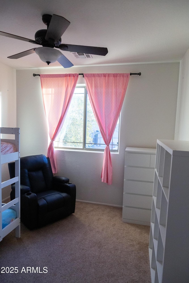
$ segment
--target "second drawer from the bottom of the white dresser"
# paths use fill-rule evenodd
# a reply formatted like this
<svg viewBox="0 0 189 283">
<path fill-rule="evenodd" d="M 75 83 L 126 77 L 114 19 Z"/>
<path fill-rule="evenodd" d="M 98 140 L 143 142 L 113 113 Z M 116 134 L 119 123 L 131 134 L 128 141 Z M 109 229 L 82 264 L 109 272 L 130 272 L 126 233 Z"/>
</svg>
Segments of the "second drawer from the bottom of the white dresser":
<svg viewBox="0 0 189 283">
<path fill-rule="evenodd" d="M 151 205 L 151 196 L 123 194 L 123 206 L 151 209 Z"/>
</svg>

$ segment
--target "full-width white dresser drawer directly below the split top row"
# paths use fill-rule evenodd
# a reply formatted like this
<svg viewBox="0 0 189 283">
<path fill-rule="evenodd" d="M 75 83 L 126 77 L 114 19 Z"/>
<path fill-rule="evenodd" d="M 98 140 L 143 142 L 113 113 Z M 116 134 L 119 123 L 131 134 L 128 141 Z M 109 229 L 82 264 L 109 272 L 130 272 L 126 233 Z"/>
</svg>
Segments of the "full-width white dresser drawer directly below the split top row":
<svg viewBox="0 0 189 283">
<path fill-rule="evenodd" d="M 154 169 L 125 166 L 124 179 L 154 182 Z"/>
</svg>

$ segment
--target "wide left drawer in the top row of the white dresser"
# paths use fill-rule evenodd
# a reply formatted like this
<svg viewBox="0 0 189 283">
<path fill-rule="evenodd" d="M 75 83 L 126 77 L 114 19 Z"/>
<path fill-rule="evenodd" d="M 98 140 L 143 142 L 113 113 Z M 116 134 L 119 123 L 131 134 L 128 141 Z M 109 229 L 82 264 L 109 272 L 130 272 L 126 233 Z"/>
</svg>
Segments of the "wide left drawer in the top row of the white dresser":
<svg viewBox="0 0 189 283">
<path fill-rule="evenodd" d="M 125 165 L 150 167 L 150 154 L 126 152 Z"/>
</svg>

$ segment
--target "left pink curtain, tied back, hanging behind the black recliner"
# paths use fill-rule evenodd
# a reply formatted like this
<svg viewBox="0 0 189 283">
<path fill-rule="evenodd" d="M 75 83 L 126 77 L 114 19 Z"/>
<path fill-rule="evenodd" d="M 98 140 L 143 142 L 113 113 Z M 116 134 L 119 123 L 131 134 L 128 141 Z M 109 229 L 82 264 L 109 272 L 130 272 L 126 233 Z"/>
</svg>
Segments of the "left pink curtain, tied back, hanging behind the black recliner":
<svg viewBox="0 0 189 283">
<path fill-rule="evenodd" d="M 48 122 L 50 158 L 53 173 L 56 173 L 54 140 L 60 132 L 76 87 L 79 74 L 40 75 L 43 103 Z"/>
</svg>

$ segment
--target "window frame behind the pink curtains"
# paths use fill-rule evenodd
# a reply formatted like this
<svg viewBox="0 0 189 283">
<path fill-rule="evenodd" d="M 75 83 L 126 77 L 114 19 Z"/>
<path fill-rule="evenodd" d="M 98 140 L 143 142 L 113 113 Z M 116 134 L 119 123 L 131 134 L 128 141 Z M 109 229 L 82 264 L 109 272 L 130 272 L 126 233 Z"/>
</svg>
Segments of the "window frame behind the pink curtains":
<svg viewBox="0 0 189 283">
<path fill-rule="evenodd" d="M 104 152 L 104 149 L 97 149 L 97 148 L 87 148 L 86 147 L 86 135 L 87 135 L 87 99 L 89 99 L 88 93 L 87 93 L 87 87 L 85 84 L 77 84 L 76 88 L 84 88 L 84 111 L 83 111 L 83 142 L 82 142 L 82 147 L 58 147 L 54 146 L 55 149 L 67 149 L 67 150 L 81 150 L 81 151 L 93 151 L 93 152 Z M 121 114 L 120 114 L 121 115 Z M 58 136 L 57 136 L 58 139 Z M 119 116 L 119 129 L 118 129 L 118 149 L 110 149 L 110 152 L 118 153 L 119 152 L 119 139 L 120 139 L 120 116 Z M 55 140 L 56 143 L 58 144 L 59 141 Z M 70 142 L 71 143 L 71 142 Z M 78 144 L 81 144 L 78 142 Z M 100 144 L 101 145 L 101 144 Z M 104 144 L 102 144 L 104 145 Z M 113 145 L 113 137 L 111 140 L 110 145 Z"/>
</svg>

